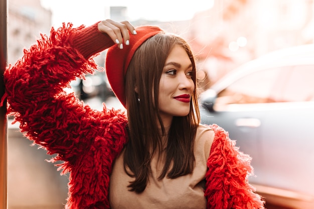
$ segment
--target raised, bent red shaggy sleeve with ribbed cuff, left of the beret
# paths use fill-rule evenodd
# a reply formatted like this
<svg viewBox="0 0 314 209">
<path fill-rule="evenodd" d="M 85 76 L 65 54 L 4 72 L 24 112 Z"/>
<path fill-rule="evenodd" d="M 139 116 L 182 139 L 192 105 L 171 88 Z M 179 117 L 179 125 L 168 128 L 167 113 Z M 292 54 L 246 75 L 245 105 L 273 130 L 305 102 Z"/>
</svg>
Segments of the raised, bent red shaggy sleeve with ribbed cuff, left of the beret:
<svg viewBox="0 0 314 209">
<path fill-rule="evenodd" d="M 91 56 L 112 45 L 97 24 L 87 28 L 63 24 L 57 30 L 52 28 L 50 37 L 41 35 L 4 73 L 2 103 L 7 99 L 8 114 L 15 116 L 29 139 L 49 154 L 57 153 L 56 160 L 73 161 L 92 143 L 97 132 L 93 127 L 99 127 L 95 110 L 64 88 L 76 77 L 93 73 L 97 66 Z M 114 115 L 108 112 L 107 117 L 110 114 Z"/>
</svg>

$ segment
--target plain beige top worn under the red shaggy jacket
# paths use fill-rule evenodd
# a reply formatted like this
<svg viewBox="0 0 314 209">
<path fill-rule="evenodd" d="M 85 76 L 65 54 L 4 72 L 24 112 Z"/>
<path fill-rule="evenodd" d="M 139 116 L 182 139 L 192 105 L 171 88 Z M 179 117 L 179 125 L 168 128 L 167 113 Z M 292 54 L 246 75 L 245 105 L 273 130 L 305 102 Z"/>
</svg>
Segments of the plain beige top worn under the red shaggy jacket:
<svg viewBox="0 0 314 209">
<path fill-rule="evenodd" d="M 206 162 L 214 139 L 214 131 L 210 130 L 204 125 L 200 125 L 197 129 L 194 145 L 195 168 L 192 174 L 175 179 L 165 177 L 158 180 L 163 169 L 161 162 L 163 160 L 153 157 L 149 182 L 140 194 L 128 190 L 127 185 L 134 178 L 128 176 L 124 171 L 124 152 L 122 152 L 113 165 L 110 177 L 109 199 L 111 208 L 206 208 L 204 196 Z"/>
</svg>

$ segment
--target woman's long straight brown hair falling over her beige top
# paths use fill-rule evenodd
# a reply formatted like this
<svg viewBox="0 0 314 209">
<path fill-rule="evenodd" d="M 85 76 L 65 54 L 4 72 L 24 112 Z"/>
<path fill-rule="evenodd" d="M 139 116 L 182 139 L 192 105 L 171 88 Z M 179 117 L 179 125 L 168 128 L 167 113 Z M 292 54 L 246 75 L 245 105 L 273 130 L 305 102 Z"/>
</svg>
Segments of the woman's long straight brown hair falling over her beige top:
<svg viewBox="0 0 314 209">
<path fill-rule="evenodd" d="M 173 118 L 168 133 L 166 161 L 159 179 L 165 176 L 177 178 L 192 173 L 194 169 L 193 148 L 200 120 L 195 60 L 184 39 L 174 34 L 160 33 L 136 50 L 125 78 L 129 141 L 124 152 L 124 170 L 129 176 L 135 177 L 129 184 L 129 190 L 137 193 L 146 187 L 152 156 L 156 150 L 163 149 L 162 137 L 166 133 L 159 114 L 158 89 L 166 59 L 175 45 L 182 46 L 190 57 L 195 89 L 190 113 Z"/>
</svg>

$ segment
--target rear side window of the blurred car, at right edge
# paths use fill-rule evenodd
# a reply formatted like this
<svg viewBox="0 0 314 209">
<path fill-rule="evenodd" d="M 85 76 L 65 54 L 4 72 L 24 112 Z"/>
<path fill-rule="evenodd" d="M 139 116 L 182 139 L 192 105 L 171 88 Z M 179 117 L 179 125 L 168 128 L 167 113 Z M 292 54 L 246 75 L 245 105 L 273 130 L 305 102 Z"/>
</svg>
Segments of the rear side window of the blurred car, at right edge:
<svg viewBox="0 0 314 209">
<path fill-rule="evenodd" d="M 281 91 L 273 91 L 276 102 L 314 101 L 314 66 L 294 66 Z"/>
</svg>

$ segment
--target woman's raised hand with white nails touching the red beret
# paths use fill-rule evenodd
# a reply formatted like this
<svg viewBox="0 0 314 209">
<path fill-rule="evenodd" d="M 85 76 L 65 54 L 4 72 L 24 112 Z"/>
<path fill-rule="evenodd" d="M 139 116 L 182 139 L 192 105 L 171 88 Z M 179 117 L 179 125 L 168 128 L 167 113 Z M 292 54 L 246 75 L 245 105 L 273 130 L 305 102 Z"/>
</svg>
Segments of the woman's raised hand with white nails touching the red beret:
<svg viewBox="0 0 314 209">
<path fill-rule="evenodd" d="M 136 35 L 135 28 L 128 21 L 101 21 L 98 23 L 98 30 L 102 33 L 106 33 L 114 43 L 119 45 L 120 49 L 123 49 L 123 41 L 125 45 L 129 45 L 130 43 L 130 35 L 128 32 Z"/>
</svg>

